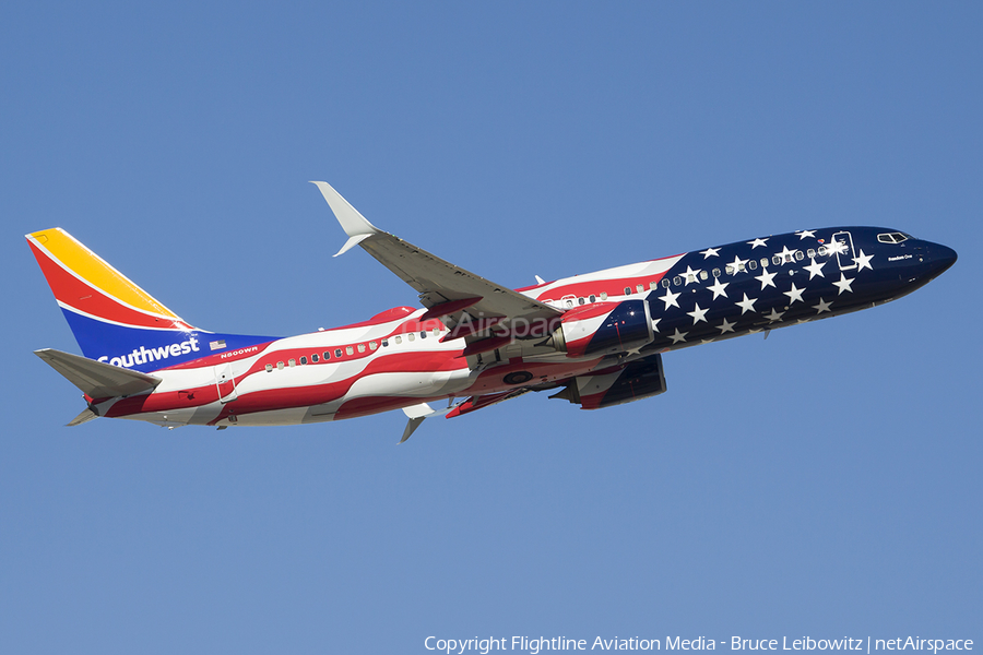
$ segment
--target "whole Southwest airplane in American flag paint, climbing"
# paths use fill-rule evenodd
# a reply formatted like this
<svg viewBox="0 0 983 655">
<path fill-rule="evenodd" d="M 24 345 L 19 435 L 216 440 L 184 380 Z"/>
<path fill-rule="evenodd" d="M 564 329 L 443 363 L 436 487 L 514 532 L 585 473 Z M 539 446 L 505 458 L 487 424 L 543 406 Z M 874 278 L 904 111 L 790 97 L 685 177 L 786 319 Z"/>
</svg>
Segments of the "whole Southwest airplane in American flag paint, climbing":
<svg viewBox="0 0 983 655">
<path fill-rule="evenodd" d="M 348 239 L 413 287 L 422 308 L 298 336 L 208 332 L 60 228 L 26 235 L 84 356 L 36 355 L 96 417 L 283 426 L 402 409 L 400 443 L 535 391 L 601 409 L 666 391 L 662 355 L 876 307 L 957 259 L 890 228 L 827 227 L 737 241 L 510 289 L 369 223 L 327 182 Z M 446 401 L 446 407 L 431 403 Z"/>
</svg>

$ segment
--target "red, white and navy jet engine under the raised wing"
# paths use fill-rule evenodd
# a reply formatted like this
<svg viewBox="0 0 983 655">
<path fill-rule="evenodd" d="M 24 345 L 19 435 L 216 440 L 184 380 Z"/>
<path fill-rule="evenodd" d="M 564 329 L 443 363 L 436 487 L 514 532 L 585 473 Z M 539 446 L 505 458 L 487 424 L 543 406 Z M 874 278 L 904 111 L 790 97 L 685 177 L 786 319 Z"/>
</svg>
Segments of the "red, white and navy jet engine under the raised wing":
<svg viewBox="0 0 983 655">
<path fill-rule="evenodd" d="M 553 331 L 553 345 L 567 357 L 635 350 L 655 337 L 644 300 L 595 302 L 566 312 Z"/>
</svg>

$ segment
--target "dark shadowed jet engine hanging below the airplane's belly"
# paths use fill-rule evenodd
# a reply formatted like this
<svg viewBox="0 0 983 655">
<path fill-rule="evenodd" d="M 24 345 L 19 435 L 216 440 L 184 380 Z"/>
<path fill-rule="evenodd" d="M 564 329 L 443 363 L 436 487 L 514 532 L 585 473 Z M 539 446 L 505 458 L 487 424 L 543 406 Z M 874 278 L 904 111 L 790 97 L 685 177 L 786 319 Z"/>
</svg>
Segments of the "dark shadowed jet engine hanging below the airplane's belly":
<svg viewBox="0 0 983 655">
<path fill-rule="evenodd" d="M 601 409 L 659 395 L 665 390 L 662 355 L 650 355 L 592 376 L 577 376 L 566 389 L 549 397 L 570 401 L 582 409 Z"/>
</svg>

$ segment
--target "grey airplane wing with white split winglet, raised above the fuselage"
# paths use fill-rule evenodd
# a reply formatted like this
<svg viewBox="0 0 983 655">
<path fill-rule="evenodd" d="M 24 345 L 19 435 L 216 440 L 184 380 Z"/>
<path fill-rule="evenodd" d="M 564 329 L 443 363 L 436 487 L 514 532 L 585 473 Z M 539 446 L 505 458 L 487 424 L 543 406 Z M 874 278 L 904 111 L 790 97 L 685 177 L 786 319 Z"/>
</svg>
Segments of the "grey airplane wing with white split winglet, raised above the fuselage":
<svg viewBox="0 0 983 655">
<path fill-rule="evenodd" d="M 562 314 L 558 309 L 495 284 L 380 230 L 366 221 L 330 184 L 311 183 L 320 189 L 337 222 L 348 235 L 348 241 L 335 257 L 356 245 L 362 246 L 383 266 L 416 289 L 419 301 L 428 309 L 422 317 L 423 320 L 448 317 L 451 325 L 458 325 L 466 312 L 475 323 L 485 320 L 487 325 L 496 324 L 516 331 L 520 326 L 528 330 L 530 325 L 546 325 Z M 470 333 L 452 334 L 466 336 Z"/>
</svg>

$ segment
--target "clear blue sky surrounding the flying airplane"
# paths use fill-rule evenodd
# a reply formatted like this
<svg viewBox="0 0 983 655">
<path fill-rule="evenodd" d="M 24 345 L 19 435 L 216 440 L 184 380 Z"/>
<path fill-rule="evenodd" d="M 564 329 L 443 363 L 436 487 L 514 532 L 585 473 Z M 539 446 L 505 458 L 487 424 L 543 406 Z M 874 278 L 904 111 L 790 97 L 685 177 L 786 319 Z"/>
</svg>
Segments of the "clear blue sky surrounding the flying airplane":
<svg viewBox="0 0 983 655">
<path fill-rule="evenodd" d="M 0 652 L 426 653 L 427 635 L 983 645 L 980 3 L 0 9 Z M 204 329 L 414 291 L 317 189 L 524 286 L 824 225 L 949 245 L 886 307 L 545 394 L 275 429 L 100 419 L 23 235 Z"/>
</svg>

